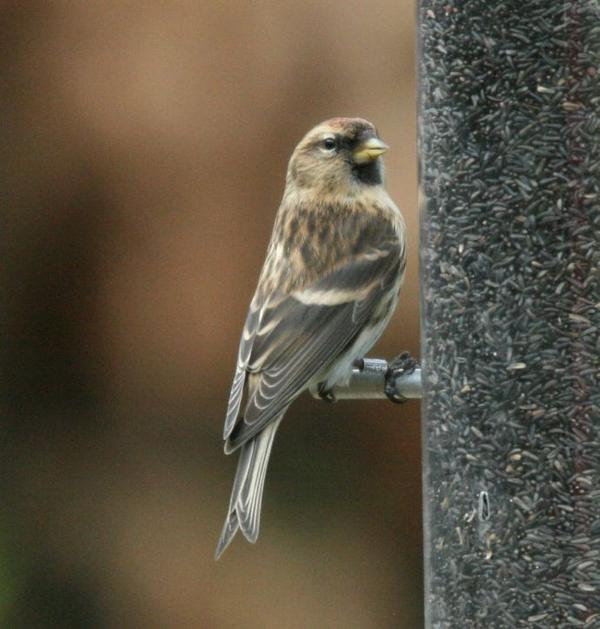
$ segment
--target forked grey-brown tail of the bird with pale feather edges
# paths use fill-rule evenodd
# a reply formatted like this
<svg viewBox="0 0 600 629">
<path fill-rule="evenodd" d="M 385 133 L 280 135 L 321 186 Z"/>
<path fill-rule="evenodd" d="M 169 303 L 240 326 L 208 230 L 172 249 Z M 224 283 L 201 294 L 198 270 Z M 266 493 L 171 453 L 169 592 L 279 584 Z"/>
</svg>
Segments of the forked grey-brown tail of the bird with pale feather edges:
<svg viewBox="0 0 600 629">
<path fill-rule="evenodd" d="M 229 511 L 225 518 L 221 539 L 217 544 L 215 559 L 223 554 L 240 528 L 249 542 L 254 544 L 258 538 L 267 464 L 273 438 L 281 419 L 282 417 L 278 417 L 241 448 Z"/>
</svg>

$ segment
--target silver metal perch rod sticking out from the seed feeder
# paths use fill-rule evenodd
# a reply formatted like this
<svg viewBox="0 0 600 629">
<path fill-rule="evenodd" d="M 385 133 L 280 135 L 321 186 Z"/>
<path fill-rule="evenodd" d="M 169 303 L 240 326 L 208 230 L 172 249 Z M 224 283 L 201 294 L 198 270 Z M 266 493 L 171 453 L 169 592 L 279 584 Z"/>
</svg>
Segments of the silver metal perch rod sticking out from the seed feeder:
<svg viewBox="0 0 600 629">
<path fill-rule="evenodd" d="M 346 386 L 333 388 L 336 400 L 385 400 L 385 378 L 388 372 L 388 363 L 381 358 L 365 358 L 362 369 L 354 367 L 352 375 Z M 396 379 L 396 391 L 405 398 L 420 399 L 422 397 L 421 369 L 417 368 L 412 373 L 399 376 Z M 317 387 L 311 387 L 310 393 L 319 398 Z"/>
</svg>

